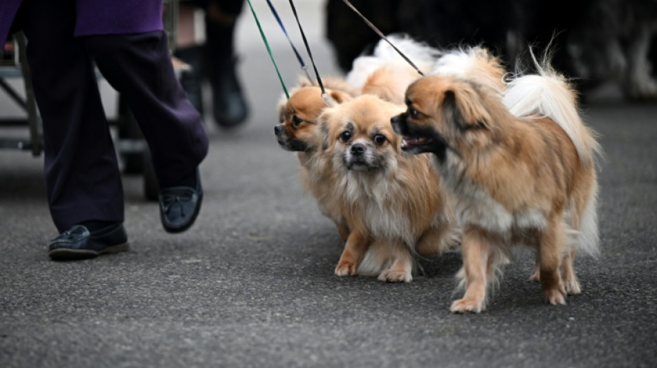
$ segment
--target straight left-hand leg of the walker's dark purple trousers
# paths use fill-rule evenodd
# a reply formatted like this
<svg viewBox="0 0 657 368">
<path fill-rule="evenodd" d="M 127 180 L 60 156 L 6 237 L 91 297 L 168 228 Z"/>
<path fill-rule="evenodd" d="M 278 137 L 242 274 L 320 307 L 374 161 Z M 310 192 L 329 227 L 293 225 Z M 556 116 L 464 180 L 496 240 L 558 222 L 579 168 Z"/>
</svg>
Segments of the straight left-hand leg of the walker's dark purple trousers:
<svg viewBox="0 0 657 368">
<path fill-rule="evenodd" d="M 73 37 L 73 2 L 25 1 L 24 32 L 44 124 L 46 187 L 59 232 L 122 222 L 123 189 L 91 59 Z"/>
</svg>

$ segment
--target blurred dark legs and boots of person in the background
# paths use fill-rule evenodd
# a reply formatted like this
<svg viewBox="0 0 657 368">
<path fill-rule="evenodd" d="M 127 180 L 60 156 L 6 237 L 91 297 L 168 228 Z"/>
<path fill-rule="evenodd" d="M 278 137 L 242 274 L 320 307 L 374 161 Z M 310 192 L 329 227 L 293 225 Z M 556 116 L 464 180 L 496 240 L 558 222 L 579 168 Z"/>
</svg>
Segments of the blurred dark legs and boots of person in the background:
<svg viewBox="0 0 657 368">
<path fill-rule="evenodd" d="M 181 7 L 195 6 L 205 12 L 205 43 L 178 48 L 176 57 L 192 66 L 181 83 L 198 111 L 203 114 L 201 81 L 207 77 L 212 88 L 212 113 L 221 128 L 232 128 L 248 116 L 248 104 L 237 77 L 235 24 L 244 0 L 182 1 Z"/>
</svg>

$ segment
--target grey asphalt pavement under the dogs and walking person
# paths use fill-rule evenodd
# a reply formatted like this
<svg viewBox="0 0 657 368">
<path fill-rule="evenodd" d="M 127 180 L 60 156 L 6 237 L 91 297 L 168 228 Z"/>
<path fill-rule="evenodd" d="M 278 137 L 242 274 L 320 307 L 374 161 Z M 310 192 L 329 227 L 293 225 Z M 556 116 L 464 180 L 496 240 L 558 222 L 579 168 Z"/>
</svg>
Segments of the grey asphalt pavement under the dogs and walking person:
<svg viewBox="0 0 657 368">
<path fill-rule="evenodd" d="M 299 3 L 318 67 L 337 74 L 320 3 Z M 409 284 L 333 275 L 342 242 L 274 139 L 281 87 L 250 13 L 239 32 L 252 114 L 231 133 L 208 122 L 205 202 L 187 233 L 165 233 L 142 178 L 125 176 L 131 251 L 52 262 L 42 157 L 0 151 L 0 367 L 657 366 L 655 104 L 584 106 L 604 159 L 602 256 L 577 260 L 582 294 L 545 304 L 519 253 L 488 311 L 454 315 L 456 254 Z M 294 84 L 289 46 L 266 32 Z"/>
</svg>

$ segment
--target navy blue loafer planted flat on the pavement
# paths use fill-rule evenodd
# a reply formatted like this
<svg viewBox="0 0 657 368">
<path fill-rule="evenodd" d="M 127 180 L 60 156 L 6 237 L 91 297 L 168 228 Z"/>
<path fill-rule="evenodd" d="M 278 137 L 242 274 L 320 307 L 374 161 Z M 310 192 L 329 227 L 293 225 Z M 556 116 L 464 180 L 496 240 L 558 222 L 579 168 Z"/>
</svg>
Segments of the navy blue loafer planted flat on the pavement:
<svg viewBox="0 0 657 368">
<path fill-rule="evenodd" d="M 128 235 L 120 222 L 93 232 L 74 225 L 48 243 L 48 255 L 53 260 L 81 260 L 127 250 Z"/>
</svg>

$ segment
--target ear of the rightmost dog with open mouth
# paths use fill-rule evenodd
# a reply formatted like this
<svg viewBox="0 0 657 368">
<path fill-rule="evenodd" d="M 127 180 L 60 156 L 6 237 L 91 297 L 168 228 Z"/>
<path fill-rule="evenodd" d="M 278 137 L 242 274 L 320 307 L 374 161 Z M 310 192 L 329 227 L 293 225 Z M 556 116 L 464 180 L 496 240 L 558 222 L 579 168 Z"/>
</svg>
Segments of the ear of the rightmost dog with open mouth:
<svg viewBox="0 0 657 368">
<path fill-rule="evenodd" d="M 490 127 L 490 113 L 472 86 L 445 90 L 442 106 L 445 119 L 454 122 L 461 130 Z"/>
</svg>

